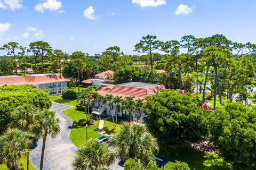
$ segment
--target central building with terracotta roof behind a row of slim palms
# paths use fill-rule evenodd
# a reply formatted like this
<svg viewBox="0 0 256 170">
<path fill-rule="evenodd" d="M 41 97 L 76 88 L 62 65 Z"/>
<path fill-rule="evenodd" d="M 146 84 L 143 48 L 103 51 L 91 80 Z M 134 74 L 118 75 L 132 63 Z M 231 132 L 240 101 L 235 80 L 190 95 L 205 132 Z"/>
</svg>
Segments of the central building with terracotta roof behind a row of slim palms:
<svg viewBox="0 0 256 170">
<path fill-rule="evenodd" d="M 98 94 L 101 96 L 106 96 L 106 95 L 113 95 L 119 96 L 119 97 L 129 97 L 133 96 L 134 99 L 145 99 L 147 96 L 154 95 L 156 94 L 157 91 L 166 89 L 163 85 L 158 85 L 158 84 L 151 84 L 151 83 L 141 83 L 141 82 L 129 82 L 129 83 L 123 83 L 123 84 L 116 84 L 114 86 L 107 86 L 107 87 L 102 87 L 100 90 L 98 90 Z M 101 108 L 105 108 L 107 115 L 110 115 L 109 108 L 108 108 L 108 103 L 104 104 L 105 106 L 101 106 Z M 98 106 L 100 107 L 100 106 Z M 115 106 L 114 106 L 115 107 Z M 143 113 L 144 109 L 142 109 L 142 116 L 140 120 L 143 119 L 145 114 Z M 103 111 L 101 109 L 100 112 L 94 112 L 94 114 L 102 114 Z M 115 114 L 115 109 L 112 111 L 114 115 Z M 126 115 L 123 115 L 123 113 L 118 113 L 119 117 L 124 117 Z M 135 115 L 133 115 L 134 117 Z"/>
</svg>

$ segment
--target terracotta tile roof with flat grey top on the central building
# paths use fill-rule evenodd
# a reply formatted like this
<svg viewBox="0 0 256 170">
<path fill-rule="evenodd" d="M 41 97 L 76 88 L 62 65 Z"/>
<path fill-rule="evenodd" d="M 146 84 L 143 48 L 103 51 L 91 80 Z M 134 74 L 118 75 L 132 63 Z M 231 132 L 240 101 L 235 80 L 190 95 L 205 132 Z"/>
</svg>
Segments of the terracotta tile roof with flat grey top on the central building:
<svg viewBox="0 0 256 170">
<path fill-rule="evenodd" d="M 113 87 L 101 88 L 98 93 L 101 96 L 106 96 L 111 94 L 113 96 L 134 96 L 135 98 L 145 98 L 146 96 L 153 95 L 156 91 L 165 89 L 163 85 L 150 84 L 150 83 L 123 83 L 117 84 Z"/>
</svg>

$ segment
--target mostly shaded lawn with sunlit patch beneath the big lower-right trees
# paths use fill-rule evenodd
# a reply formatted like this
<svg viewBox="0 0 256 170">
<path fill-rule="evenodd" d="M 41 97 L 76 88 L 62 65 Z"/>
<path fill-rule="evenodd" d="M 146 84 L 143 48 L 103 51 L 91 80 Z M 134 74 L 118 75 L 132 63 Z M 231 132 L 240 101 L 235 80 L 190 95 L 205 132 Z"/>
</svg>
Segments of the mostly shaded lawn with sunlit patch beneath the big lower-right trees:
<svg viewBox="0 0 256 170">
<path fill-rule="evenodd" d="M 229 169 L 229 164 L 217 154 L 210 154 L 193 148 L 182 148 L 177 150 L 160 149 L 159 155 L 162 158 L 175 162 L 186 162 L 191 169 L 214 170 Z"/>
</svg>

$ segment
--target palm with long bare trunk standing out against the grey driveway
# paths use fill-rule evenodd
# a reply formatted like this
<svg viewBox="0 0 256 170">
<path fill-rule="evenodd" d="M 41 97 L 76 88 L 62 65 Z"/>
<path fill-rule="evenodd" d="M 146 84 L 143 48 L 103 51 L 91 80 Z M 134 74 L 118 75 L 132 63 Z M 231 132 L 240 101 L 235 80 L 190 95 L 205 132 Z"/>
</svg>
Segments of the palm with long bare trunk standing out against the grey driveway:
<svg viewBox="0 0 256 170">
<path fill-rule="evenodd" d="M 60 133 L 59 122 L 59 118 L 55 117 L 55 113 L 52 111 L 44 110 L 36 116 L 36 124 L 33 129 L 34 134 L 37 138 L 43 138 L 40 170 L 43 169 L 46 137 L 47 135 L 51 135 L 52 138 L 57 137 Z"/>
</svg>

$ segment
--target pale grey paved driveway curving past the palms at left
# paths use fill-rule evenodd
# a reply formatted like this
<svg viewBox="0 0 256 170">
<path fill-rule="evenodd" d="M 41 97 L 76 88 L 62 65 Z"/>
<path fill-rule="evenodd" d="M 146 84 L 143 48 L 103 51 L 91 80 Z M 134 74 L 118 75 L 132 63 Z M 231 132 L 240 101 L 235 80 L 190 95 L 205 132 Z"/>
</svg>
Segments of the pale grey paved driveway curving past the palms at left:
<svg viewBox="0 0 256 170">
<path fill-rule="evenodd" d="M 46 139 L 46 147 L 44 152 L 44 170 L 52 169 L 59 170 L 72 169 L 71 163 L 74 159 L 76 146 L 70 141 L 69 133 L 72 126 L 72 120 L 62 113 L 63 110 L 73 106 L 52 103 L 51 111 L 56 111 L 56 116 L 60 120 L 61 132 L 56 138 L 52 139 L 50 136 Z M 39 169 L 42 139 L 37 141 L 37 145 L 31 151 L 30 162 Z"/>
</svg>

